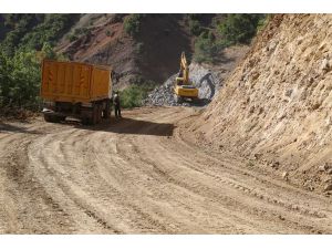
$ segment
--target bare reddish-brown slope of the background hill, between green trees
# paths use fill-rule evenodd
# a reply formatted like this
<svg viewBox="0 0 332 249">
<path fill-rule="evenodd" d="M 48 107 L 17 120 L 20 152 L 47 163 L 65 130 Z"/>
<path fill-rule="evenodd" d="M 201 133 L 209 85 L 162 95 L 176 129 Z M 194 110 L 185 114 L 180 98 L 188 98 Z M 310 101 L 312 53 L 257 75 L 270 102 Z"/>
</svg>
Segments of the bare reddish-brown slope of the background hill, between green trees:
<svg viewBox="0 0 332 249">
<path fill-rule="evenodd" d="M 184 14 L 144 15 L 135 38 L 124 30 L 126 18 L 128 14 L 84 14 L 58 43 L 56 51 L 71 60 L 113 65 L 125 84 L 137 77 L 162 83 L 178 70 L 175 62 L 180 52 L 193 52 L 194 37 Z M 79 33 L 74 41 L 66 39 L 72 33 Z"/>
</svg>

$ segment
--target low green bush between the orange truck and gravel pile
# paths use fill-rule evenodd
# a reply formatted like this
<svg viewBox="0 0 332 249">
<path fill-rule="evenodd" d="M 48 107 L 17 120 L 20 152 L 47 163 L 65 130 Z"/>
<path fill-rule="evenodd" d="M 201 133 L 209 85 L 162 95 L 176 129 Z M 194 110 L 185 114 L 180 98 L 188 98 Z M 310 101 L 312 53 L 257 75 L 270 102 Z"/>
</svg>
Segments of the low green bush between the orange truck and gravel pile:
<svg viewBox="0 0 332 249">
<path fill-rule="evenodd" d="M 147 97 L 148 92 L 151 92 L 153 89 L 153 83 L 129 85 L 120 93 L 122 106 L 124 108 L 142 106 L 142 102 Z"/>
</svg>

